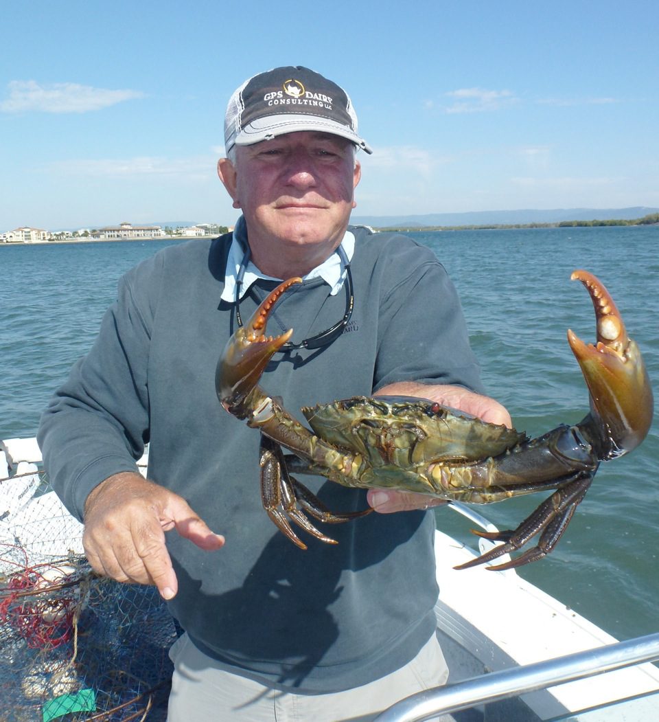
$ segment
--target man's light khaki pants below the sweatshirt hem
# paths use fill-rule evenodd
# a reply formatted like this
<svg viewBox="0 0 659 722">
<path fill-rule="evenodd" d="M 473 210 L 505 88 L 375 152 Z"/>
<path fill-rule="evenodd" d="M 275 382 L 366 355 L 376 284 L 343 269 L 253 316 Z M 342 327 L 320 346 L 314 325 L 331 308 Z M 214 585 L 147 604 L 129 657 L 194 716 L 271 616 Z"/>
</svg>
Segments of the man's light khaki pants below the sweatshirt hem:
<svg viewBox="0 0 659 722">
<path fill-rule="evenodd" d="M 170 657 L 175 669 L 167 722 L 367 722 L 404 697 L 444 684 L 448 677 L 435 636 L 401 669 L 328 695 L 273 690 L 219 669 L 188 635 L 173 645 Z"/>
</svg>

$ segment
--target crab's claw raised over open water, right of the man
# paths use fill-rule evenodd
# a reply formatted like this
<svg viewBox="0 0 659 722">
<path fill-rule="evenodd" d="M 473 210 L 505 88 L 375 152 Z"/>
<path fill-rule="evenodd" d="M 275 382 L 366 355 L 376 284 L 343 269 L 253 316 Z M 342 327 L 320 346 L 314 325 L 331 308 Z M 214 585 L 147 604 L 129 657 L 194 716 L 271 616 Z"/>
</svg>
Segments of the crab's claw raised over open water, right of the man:
<svg viewBox="0 0 659 722">
<path fill-rule="evenodd" d="M 650 430 L 653 393 L 645 363 L 614 300 L 588 271 L 574 271 L 590 293 L 597 320 L 597 343 L 585 344 L 572 331 L 567 340 L 590 391 L 600 458 L 615 458 L 636 448 Z"/>
</svg>

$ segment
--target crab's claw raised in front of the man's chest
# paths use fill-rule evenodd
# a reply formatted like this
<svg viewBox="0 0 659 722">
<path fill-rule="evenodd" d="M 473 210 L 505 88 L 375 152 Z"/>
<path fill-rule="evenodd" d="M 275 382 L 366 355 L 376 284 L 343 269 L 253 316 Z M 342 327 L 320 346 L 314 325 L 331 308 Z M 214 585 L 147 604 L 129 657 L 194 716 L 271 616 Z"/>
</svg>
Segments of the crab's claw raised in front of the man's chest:
<svg viewBox="0 0 659 722">
<path fill-rule="evenodd" d="M 279 297 L 292 285 L 302 283 L 301 278 L 290 278 L 269 293 L 245 326 L 236 329 L 215 371 L 217 398 L 224 409 L 235 413 L 250 391 L 258 385 L 271 357 L 288 341 L 293 329 L 280 336 L 266 336 L 266 323 Z"/>
</svg>

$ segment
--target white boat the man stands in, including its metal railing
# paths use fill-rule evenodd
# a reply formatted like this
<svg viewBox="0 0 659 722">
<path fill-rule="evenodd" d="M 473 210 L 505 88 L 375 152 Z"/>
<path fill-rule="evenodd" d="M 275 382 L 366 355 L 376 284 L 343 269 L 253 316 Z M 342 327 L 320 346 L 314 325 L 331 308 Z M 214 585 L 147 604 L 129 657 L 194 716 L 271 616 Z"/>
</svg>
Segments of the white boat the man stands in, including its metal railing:
<svg viewBox="0 0 659 722">
<path fill-rule="evenodd" d="M 139 461 L 144 474 L 147 463 L 145 454 Z M 17 540 L 23 536 L 20 540 L 25 544 L 29 536 L 29 544 L 45 557 L 80 553 L 79 523 L 66 513 L 53 492 L 43 494 L 42 487 L 36 494 L 40 464 L 35 439 L 0 442 L 0 507 L 4 502 L 7 506 L 6 510 L 0 508 L 0 534 L 4 530 L 6 536 Z M 7 479 L 13 479 L 12 486 Z M 12 487 L 10 494 L 7 490 Z M 10 509 L 12 500 L 14 508 Z M 53 534 L 45 535 L 34 521 L 31 525 L 19 523 L 17 510 L 35 503 L 43 505 L 40 513 L 44 518 L 60 518 L 62 532 L 54 535 L 56 539 L 45 539 Z M 494 530 L 471 508 L 450 506 L 472 523 Z M 471 549 L 436 532 L 437 635 L 450 678 L 445 687 L 401 700 L 378 720 L 415 722 L 453 712 L 456 720 L 469 722 L 659 719 L 659 668 L 651 664 L 659 659 L 659 632 L 619 642 L 520 578 L 515 570 L 490 571 L 480 566 L 455 571 L 453 567 L 477 556 L 492 542 L 481 539 L 479 544 L 479 550 Z M 0 657 L 4 653 L 0 648 Z M 0 700 L 4 709 L 2 703 Z M 152 708 L 145 718 L 160 720 L 163 715 L 163 709 Z"/>
</svg>

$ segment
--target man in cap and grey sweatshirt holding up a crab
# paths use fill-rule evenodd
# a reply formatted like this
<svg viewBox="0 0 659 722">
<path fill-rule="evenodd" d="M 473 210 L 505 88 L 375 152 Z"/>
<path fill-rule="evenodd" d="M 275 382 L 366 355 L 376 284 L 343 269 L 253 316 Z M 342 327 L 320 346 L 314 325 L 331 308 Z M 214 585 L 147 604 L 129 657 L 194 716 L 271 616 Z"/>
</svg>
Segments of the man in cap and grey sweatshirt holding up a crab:
<svg viewBox="0 0 659 722">
<path fill-rule="evenodd" d="M 279 279 L 301 276 L 269 321 L 272 333 L 293 328 L 296 346 L 261 381 L 292 412 L 389 393 L 510 418 L 473 393 L 478 368 L 435 256 L 348 230 L 355 153 L 371 149 L 341 87 L 303 67 L 258 74 L 230 100 L 225 142 L 218 173 L 243 212 L 235 232 L 126 274 L 40 443 L 53 486 L 84 518 L 95 570 L 155 584 L 186 630 L 171 654 L 170 722 L 369 719 L 446 677 L 424 512 L 440 501 L 315 479 L 332 510 L 382 514 L 333 527 L 336 546 L 294 547 L 261 507 L 258 432 L 217 401 L 224 344 Z M 350 323 L 323 343 L 353 299 Z M 147 441 L 148 481 L 134 462 Z"/>
</svg>

